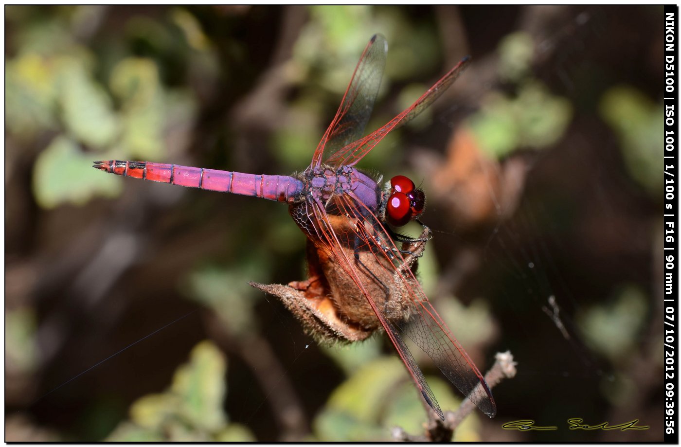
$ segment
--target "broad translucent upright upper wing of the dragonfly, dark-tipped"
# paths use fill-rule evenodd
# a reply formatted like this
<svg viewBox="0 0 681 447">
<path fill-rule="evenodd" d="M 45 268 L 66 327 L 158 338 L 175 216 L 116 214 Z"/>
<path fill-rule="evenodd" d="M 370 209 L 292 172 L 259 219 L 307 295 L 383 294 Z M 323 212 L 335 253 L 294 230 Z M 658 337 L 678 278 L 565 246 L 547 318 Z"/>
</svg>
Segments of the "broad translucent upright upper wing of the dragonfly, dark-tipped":
<svg viewBox="0 0 681 447">
<path fill-rule="evenodd" d="M 364 135 L 376 96 L 381 87 L 387 42 L 381 34 L 371 37 L 355 67 L 343 100 L 313 155 L 311 166 L 319 166 L 328 155 Z"/>
</svg>

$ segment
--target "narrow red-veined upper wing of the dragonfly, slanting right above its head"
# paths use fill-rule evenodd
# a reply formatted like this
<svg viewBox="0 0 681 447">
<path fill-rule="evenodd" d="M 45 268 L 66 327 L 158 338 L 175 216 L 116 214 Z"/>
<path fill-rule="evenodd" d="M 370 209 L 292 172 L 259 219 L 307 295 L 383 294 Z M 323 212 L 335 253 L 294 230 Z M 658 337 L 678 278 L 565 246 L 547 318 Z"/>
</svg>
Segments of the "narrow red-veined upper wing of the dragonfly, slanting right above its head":
<svg viewBox="0 0 681 447">
<path fill-rule="evenodd" d="M 470 61 L 471 59 L 469 57 L 464 57 L 464 59 L 456 64 L 452 70 L 449 70 L 445 76 L 443 76 L 439 81 L 435 82 L 435 84 L 430 87 L 426 93 L 419 97 L 414 104 L 411 104 L 411 106 L 383 125 L 383 127 L 380 129 L 368 134 L 361 140 L 349 143 L 346 147 L 340 149 L 340 151 L 336 151 L 336 153 L 331 155 L 326 160 L 326 163 L 330 164 L 331 166 L 353 166 L 357 164 L 357 162 L 360 161 L 362 157 L 364 157 L 364 155 L 366 155 L 369 151 L 371 151 L 371 149 L 374 149 L 374 147 L 379 144 L 379 142 L 383 140 L 383 138 L 389 132 L 411 121 L 411 119 L 416 117 L 419 113 L 426 110 L 426 108 L 428 108 L 428 106 L 430 106 L 435 99 L 440 97 L 440 95 L 442 95 L 449 88 L 449 86 L 454 83 L 456 78 L 458 78 L 459 75 L 465 70 Z"/>
</svg>

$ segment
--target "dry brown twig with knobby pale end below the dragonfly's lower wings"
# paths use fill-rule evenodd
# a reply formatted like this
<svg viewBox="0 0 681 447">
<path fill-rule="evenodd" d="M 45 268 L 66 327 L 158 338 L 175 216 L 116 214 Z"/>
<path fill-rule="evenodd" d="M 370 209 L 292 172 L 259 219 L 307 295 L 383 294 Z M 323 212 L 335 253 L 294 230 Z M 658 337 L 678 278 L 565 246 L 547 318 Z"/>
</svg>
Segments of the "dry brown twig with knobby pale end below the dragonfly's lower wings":
<svg viewBox="0 0 681 447">
<path fill-rule="evenodd" d="M 510 351 L 497 352 L 494 356 L 494 365 L 485 374 L 485 381 L 490 390 L 504 379 L 516 376 L 516 362 Z M 454 430 L 461 422 L 475 410 L 475 403 L 470 399 L 464 399 L 456 412 L 445 412 L 445 420 L 441 420 L 434 412 L 428 412 L 428 422 L 425 424 L 424 435 L 410 435 L 401 427 L 394 427 L 392 437 L 396 441 L 409 442 L 449 442 L 452 440 Z"/>
</svg>

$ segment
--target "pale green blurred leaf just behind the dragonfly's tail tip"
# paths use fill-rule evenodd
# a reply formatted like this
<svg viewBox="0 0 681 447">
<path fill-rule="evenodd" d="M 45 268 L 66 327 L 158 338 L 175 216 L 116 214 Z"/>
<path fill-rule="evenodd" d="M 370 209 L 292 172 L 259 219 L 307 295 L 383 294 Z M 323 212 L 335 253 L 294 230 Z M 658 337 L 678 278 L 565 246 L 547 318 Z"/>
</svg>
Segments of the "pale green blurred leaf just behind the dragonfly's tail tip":
<svg viewBox="0 0 681 447">
<path fill-rule="evenodd" d="M 74 140 L 57 136 L 40 153 L 33 167 L 33 195 L 51 209 L 64 203 L 85 204 L 93 196 L 116 197 L 121 179 L 92 168 L 92 155 L 82 153 Z"/>
</svg>

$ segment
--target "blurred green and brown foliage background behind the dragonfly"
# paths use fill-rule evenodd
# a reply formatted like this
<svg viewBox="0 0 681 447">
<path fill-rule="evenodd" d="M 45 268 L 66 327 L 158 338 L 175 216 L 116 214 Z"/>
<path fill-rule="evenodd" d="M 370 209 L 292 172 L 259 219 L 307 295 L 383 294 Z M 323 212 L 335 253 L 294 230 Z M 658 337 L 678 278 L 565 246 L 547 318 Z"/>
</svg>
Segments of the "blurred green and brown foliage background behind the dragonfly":
<svg viewBox="0 0 681 447">
<path fill-rule="evenodd" d="M 498 415 L 457 440 L 661 440 L 661 7 L 5 7 L 5 440 L 389 440 L 425 414 L 381 336 L 319 346 L 247 281 L 304 279 L 285 206 L 99 159 L 288 174 L 373 33 L 362 167 L 410 174 L 421 279 Z M 457 392 L 428 358 L 445 410 Z M 85 372 L 84 372 L 85 371 Z M 567 418 L 648 430 L 570 431 Z M 557 431 L 517 432 L 534 419 Z"/>
</svg>

